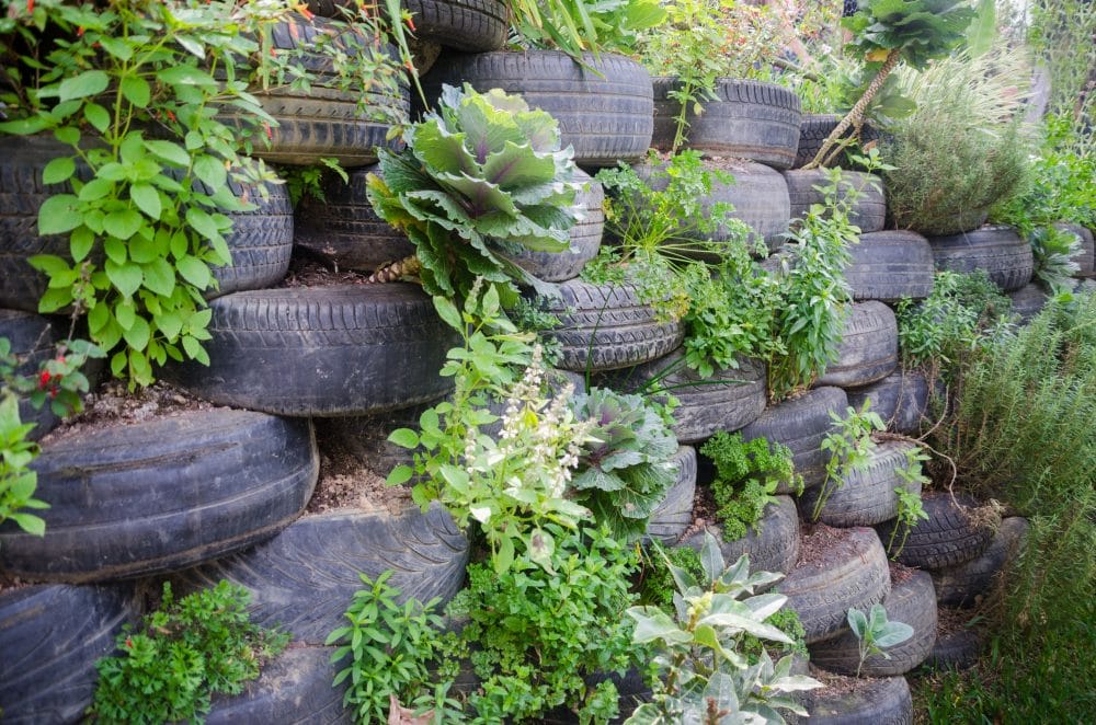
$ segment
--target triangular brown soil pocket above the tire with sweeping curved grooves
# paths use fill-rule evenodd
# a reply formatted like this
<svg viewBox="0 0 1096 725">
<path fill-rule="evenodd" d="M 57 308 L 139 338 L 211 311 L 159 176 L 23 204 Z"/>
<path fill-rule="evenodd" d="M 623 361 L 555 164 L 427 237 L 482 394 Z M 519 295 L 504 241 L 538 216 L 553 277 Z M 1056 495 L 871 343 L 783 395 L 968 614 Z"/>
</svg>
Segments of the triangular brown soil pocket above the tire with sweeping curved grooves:
<svg viewBox="0 0 1096 725">
<path fill-rule="evenodd" d="M 333 449 L 320 456 L 320 480 L 306 513 L 321 514 L 339 508 L 384 508 L 398 514 L 410 503 L 410 487 L 389 486 L 358 459 Z"/>
</svg>

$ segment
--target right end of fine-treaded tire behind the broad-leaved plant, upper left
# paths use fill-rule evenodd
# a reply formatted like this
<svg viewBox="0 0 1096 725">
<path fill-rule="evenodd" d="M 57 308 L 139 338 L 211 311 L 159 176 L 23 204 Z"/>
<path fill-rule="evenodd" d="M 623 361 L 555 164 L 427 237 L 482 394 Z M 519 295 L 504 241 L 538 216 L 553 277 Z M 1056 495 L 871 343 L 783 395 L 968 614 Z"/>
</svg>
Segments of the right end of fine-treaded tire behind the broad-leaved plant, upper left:
<svg viewBox="0 0 1096 725">
<path fill-rule="evenodd" d="M 285 184 L 266 184 L 265 199 L 260 189 L 233 181 L 228 186 L 255 208 L 225 215 L 232 220 L 232 231 L 225 237 L 232 263 L 212 268 L 218 287 L 207 299 L 276 285 L 289 271 L 293 254 L 293 204 Z"/>
</svg>

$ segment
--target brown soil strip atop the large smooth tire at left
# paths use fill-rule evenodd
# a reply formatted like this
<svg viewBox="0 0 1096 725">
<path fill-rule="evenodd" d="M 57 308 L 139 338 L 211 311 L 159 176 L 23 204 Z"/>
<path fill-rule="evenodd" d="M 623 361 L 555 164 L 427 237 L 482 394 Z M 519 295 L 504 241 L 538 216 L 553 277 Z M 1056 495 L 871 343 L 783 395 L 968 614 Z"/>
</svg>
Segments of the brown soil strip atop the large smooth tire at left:
<svg viewBox="0 0 1096 725">
<path fill-rule="evenodd" d="M 83 412 L 49 431 L 42 445 L 72 433 L 88 433 L 111 426 L 138 425 L 191 411 L 210 411 L 213 403 L 198 400 L 165 382 L 128 392 L 124 382 L 107 380 L 83 400 Z"/>
</svg>

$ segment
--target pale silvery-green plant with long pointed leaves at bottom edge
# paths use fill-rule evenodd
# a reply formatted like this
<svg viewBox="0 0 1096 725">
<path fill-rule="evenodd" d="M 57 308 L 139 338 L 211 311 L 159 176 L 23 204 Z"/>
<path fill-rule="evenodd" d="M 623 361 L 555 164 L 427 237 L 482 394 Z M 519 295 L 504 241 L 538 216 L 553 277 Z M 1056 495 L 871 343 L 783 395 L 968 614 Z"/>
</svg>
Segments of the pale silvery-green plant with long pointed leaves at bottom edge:
<svg viewBox="0 0 1096 725">
<path fill-rule="evenodd" d="M 817 680 L 791 675 L 792 657 L 774 664 L 766 652 L 750 665 L 742 648 L 745 638 L 794 644 L 765 620 L 779 611 L 787 597 L 755 595 L 781 578 L 768 572 L 750 573 L 743 555 L 723 563 L 719 542 L 705 532 L 700 551 L 704 576 L 694 578 L 667 561 L 677 586 L 671 617 L 657 607 L 632 607 L 632 641 L 657 647 L 661 672 L 653 702 L 636 709 L 628 723 L 752 723 L 781 722 L 779 710 L 806 716 L 789 693 L 821 687 Z"/>
</svg>

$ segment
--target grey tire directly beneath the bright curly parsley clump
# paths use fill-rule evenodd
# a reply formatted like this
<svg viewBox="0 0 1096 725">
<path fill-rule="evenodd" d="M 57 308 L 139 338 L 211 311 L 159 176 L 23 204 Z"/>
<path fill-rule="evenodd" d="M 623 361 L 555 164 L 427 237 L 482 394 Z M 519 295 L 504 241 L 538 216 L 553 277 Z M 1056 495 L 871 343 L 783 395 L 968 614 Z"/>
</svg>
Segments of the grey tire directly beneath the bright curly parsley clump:
<svg viewBox="0 0 1096 725">
<path fill-rule="evenodd" d="M 728 565 L 737 562 L 742 554 L 750 554 L 751 572 L 787 574 L 799 559 L 799 515 L 790 496 L 777 496 L 776 504 L 765 507 L 757 522 L 758 530 L 750 528 L 740 539 L 727 541 L 718 525 L 707 528 L 719 540 L 719 550 Z M 694 533 L 684 543 L 700 551 L 704 531 Z"/>
</svg>

